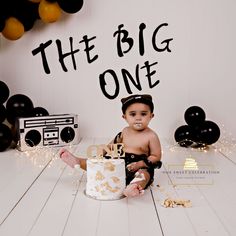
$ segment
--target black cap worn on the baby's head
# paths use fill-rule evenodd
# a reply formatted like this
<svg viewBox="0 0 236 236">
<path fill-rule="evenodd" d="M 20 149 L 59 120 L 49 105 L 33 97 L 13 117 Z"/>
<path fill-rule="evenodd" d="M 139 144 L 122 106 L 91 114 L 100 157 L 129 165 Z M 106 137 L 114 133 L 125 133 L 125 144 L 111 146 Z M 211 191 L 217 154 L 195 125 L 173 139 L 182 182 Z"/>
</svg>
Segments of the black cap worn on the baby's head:
<svg viewBox="0 0 236 236">
<path fill-rule="evenodd" d="M 122 102 L 122 112 L 125 114 L 126 109 L 128 106 L 130 106 L 133 103 L 143 103 L 146 104 L 150 107 L 151 113 L 153 113 L 154 110 L 154 105 L 152 102 L 152 96 L 149 94 L 136 94 L 136 95 L 131 95 L 126 98 L 121 99 Z"/>
</svg>

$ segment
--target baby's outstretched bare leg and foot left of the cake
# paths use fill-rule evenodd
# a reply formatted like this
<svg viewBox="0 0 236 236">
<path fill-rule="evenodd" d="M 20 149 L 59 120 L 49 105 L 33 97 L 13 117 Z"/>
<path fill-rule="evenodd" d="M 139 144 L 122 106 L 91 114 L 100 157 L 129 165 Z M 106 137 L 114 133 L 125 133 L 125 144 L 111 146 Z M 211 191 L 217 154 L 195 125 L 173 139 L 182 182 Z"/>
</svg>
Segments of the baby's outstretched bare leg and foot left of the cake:
<svg viewBox="0 0 236 236">
<path fill-rule="evenodd" d="M 76 165 L 80 165 L 82 169 L 86 170 L 86 160 L 74 156 L 71 152 L 69 152 L 65 148 L 62 148 L 60 150 L 59 156 L 70 167 L 74 168 Z"/>
</svg>

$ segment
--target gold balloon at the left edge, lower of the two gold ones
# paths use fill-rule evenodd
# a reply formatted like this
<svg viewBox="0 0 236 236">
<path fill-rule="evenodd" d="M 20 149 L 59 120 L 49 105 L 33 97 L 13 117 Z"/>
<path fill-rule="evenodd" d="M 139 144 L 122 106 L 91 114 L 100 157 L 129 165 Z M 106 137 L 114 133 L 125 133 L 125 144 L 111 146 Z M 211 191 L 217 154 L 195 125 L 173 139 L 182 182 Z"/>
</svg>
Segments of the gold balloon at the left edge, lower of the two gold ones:
<svg viewBox="0 0 236 236">
<path fill-rule="evenodd" d="M 2 35 L 9 40 L 19 39 L 25 32 L 24 25 L 15 17 L 9 17 L 5 21 Z"/>
</svg>

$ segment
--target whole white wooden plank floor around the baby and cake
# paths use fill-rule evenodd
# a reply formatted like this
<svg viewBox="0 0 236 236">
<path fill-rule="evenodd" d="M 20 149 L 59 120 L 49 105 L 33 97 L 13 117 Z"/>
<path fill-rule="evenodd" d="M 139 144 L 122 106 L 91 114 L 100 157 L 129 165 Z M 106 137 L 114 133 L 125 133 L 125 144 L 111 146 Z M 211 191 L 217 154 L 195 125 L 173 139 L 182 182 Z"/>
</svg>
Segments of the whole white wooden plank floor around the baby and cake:
<svg viewBox="0 0 236 236">
<path fill-rule="evenodd" d="M 93 143 L 106 141 L 82 139 L 69 149 L 85 155 Z M 236 148 L 220 146 L 200 151 L 162 140 L 164 165 L 153 186 L 141 197 L 118 201 L 86 197 L 86 173 L 61 162 L 59 149 L 2 152 L 0 235 L 236 235 Z M 186 158 L 214 173 L 178 174 L 188 167 Z M 165 208 L 166 198 L 191 200 L 192 207 Z"/>
</svg>

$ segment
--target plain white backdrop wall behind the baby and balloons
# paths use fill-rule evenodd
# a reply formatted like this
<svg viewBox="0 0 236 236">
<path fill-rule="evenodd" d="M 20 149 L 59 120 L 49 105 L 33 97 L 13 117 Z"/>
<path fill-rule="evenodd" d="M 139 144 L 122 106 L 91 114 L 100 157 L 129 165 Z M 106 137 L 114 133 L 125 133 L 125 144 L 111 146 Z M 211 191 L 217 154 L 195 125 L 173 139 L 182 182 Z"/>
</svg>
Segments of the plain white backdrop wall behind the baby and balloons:
<svg viewBox="0 0 236 236">
<path fill-rule="evenodd" d="M 155 102 L 151 127 L 161 137 L 172 137 L 184 124 L 184 112 L 192 105 L 201 106 L 207 119 L 225 126 L 236 135 L 236 2 L 234 0 L 85 0 L 76 14 L 64 14 L 55 23 L 38 21 L 32 30 L 16 41 L 0 36 L 0 80 L 10 89 L 10 96 L 25 94 L 35 106 L 50 114 L 77 113 L 83 137 L 112 137 L 125 122 L 121 118 L 120 99 L 129 93 L 121 73 L 127 70 L 135 78 L 139 68 L 141 91 L 130 84 L 132 93 L 149 93 Z M 139 52 L 139 26 L 144 23 L 144 54 Z M 158 33 L 154 32 L 158 26 Z M 134 40 L 123 57 L 117 54 L 118 26 Z M 163 40 L 171 39 L 169 49 L 158 52 L 155 45 L 165 48 Z M 89 63 L 83 37 L 94 45 Z M 122 36 L 122 34 L 121 34 Z M 73 39 L 75 65 L 70 56 L 64 59 L 67 72 L 58 60 L 57 42 L 62 53 L 70 52 Z M 41 54 L 32 51 L 51 41 L 45 49 L 50 74 L 45 73 Z M 122 44 L 128 50 L 128 44 Z M 152 64 L 151 76 L 156 86 L 150 88 L 146 69 Z M 99 75 L 111 69 L 118 78 L 119 93 L 108 99 L 100 88 Z M 106 91 L 114 95 L 114 79 L 106 74 Z"/>
</svg>

